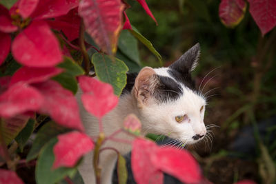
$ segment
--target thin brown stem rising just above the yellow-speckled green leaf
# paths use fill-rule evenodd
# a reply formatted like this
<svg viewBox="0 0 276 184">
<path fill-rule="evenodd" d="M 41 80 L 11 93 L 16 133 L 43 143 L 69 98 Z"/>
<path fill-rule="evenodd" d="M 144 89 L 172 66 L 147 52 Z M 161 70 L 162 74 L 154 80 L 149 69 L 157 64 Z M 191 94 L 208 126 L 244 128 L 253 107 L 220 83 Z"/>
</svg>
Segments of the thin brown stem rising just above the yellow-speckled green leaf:
<svg viewBox="0 0 276 184">
<path fill-rule="evenodd" d="M 84 44 L 84 33 L 86 32 L 86 29 L 84 28 L 83 19 L 81 19 L 81 27 L 79 28 L 79 47 L 81 48 L 81 54 L 83 55 L 84 60 L 84 71 L 86 72 L 86 75 L 90 72 L 90 60 L 88 53 L 86 51 L 86 45 Z"/>
</svg>

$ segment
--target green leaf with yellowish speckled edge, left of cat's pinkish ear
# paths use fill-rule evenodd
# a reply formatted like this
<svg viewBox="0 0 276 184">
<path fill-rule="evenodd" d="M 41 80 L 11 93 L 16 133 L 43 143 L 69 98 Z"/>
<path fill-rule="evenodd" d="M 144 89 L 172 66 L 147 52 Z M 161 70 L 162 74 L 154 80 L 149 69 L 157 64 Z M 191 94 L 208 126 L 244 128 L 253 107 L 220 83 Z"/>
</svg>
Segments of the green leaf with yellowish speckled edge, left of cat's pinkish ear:
<svg viewBox="0 0 276 184">
<path fill-rule="evenodd" d="M 105 54 L 95 53 L 92 56 L 92 63 L 98 79 L 110 83 L 113 86 L 114 93 L 119 96 L 126 86 L 128 67 L 124 61 Z"/>
</svg>

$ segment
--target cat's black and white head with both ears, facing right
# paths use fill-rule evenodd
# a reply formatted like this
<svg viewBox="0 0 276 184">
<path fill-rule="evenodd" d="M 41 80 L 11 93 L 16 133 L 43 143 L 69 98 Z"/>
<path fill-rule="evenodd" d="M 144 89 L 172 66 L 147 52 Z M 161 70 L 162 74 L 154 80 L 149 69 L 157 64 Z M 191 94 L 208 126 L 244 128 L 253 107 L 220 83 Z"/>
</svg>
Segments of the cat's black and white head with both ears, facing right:
<svg viewBox="0 0 276 184">
<path fill-rule="evenodd" d="M 143 68 L 135 79 L 132 95 L 137 99 L 143 130 L 164 134 L 182 143 L 204 138 L 206 100 L 195 89 L 191 72 L 197 66 L 199 43 L 168 68 Z"/>
</svg>

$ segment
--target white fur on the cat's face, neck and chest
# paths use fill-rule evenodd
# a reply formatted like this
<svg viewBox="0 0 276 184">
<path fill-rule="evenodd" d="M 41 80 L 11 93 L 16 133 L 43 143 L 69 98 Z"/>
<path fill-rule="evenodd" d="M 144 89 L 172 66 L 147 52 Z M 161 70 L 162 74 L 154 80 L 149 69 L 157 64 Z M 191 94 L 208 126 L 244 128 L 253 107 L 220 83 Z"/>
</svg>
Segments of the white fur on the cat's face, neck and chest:
<svg viewBox="0 0 276 184">
<path fill-rule="evenodd" d="M 162 76 L 170 76 L 166 68 L 155 69 L 155 72 Z M 174 79 L 175 80 L 175 79 Z M 133 93 L 124 94 L 119 99 L 119 104 L 112 110 L 112 112 L 106 114 L 103 117 L 103 131 L 106 136 L 112 134 L 116 130 L 123 127 L 124 118 L 130 114 L 136 114 L 141 120 L 142 130 L 141 134 L 155 133 L 168 135 L 173 139 L 178 139 L 183 143 L 195 143 L 193 140 L 195 134 L 206 134 L 206 127 L 204 125 L 204 110 L 200 112 L 202 105 L 206 105 L 206 101 L 203 97 L 197 93 L 189 90 L 181 84 L 183 95 L 179 99 L 173 102 L 158 104 L 154 99 L 150 99 L 148 105 L 144 105 L 142 108 L 138 108 L 137 101 L 133 96 Z M 81 107 L 81 118 L 86 128 L 86 133 L 90 136 L 97 136 L 99 134 L 99 127 L 97 119 L 91 116 L 84 110 L 81 105 L 81 92 L 77 93 L 77 99 Z M 175 116 L 181 116 L 186 114 L 189 117 L 189 121 L 177 123 Z M 126 139 L 131 141 L 133 138 L 127 134 L 121 133 L 117 136 L 120 139 Z M 124 143 L 117 143 L 113 141 L 107 141 L 103 147 L 115 147 L 121 154 L 130 152 L 131 145 Z M 95 175 L 92 167 L 92 152 L 90 152 L 83 159 L 83 163 L 79 167 L 79 172 L 83 176 L 83 181 L 86 184 L 95 183 Z M 112 173 L 117 160 L 117 154 L 111 150 L 106 150 L 100 154 L 100 165 L 102 167 L 102 183 L 112 183 Z"/>
</svg>

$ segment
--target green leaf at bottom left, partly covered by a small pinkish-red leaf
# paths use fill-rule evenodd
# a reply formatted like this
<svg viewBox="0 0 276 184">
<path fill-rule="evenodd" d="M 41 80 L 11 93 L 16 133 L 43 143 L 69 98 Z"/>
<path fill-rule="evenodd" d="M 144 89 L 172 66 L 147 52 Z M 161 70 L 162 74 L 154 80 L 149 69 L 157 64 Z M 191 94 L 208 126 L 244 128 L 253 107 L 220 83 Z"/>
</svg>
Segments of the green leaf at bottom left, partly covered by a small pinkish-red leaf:
<svg viewBox="0 0 276 184">
<path fill-rule="evenodd" d="M 53 138 L 41 149 L 41 154 L 39 155 L 35 169 L 35 180 L 38 184 L 54 184 L 61 181 L 65 176 L 74 176 L 77 172 L 76 167 L 52 169 L 52 164 L 55 161 L 53 147 L 56 143 L 57 138 Z"/>
</svg>

